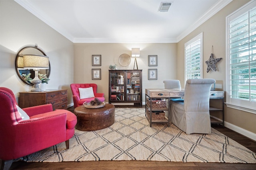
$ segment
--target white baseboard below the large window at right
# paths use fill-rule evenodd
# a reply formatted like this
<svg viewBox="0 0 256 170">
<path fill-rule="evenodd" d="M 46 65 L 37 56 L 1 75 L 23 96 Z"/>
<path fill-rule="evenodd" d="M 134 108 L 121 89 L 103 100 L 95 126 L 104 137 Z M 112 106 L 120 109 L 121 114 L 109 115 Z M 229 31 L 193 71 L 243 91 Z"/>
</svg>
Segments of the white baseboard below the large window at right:
<svg viewBox="0 0 256 170">
<path fill-rule="evenodd" d="M 219 121 L 222 121 L 222 119 L 219 119 L 217 117 L 214 117 L 214 116 L 211 116 L 211 117 L 213 117 L 214 119 L 217 119 Z M 252 139 L 253 141 L 256 141 L 256 133 L 252 133 L 250 131 L 247 131 L 246 129 L 243 129 L 241 127 L 238 127 L 238 126 L 228 123 L 226 121 L 224 121 L 224 126 L 227 127 L 228 129 L 231 129 L 231 130 L 241 134 L 241 135 L 244 135 L 245 137 Z"/>
</svg>

